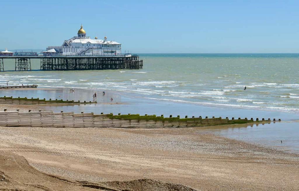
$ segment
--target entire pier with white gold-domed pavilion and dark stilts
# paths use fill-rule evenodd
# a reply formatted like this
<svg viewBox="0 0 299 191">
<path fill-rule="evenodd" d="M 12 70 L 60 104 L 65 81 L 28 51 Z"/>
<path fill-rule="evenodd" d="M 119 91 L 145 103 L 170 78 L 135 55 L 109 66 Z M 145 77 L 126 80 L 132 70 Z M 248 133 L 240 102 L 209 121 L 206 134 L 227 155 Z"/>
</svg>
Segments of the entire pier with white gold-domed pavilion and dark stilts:
<svg viewBox="0 0 299 191">
<path fill-rule="evenodd" d="M 121 44 L 115 41 L 86 36 L 81 24 L 77 36 L 65 40 L 62 46 L 48 46 L 46 51 L 9 52 L 0 54 L 0 71 L 4 71 L 4 59 L 15 59 L 15 71 L 31 70 L 30 59 L 40 59 L 41 70 L 108 70 L 142 69 L 138 55 L 123 54 Z"/>
</svg>

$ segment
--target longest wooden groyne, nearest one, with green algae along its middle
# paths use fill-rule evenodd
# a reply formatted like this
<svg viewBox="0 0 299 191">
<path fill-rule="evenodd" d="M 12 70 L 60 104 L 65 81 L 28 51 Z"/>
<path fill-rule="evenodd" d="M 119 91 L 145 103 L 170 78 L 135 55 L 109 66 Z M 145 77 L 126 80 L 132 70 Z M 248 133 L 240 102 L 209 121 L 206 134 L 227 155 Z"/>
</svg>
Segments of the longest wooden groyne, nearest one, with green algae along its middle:
<svg viewBox="0 0 299 191">
<path fill-rule="evenodd" d="M 274 119 L 275 121 L 275 119 Z M 280 121 L 280 119 L 279 119 Z M 171 128 L 171 127 L 194 127 L 194 126 L 214 126 L 214 125 L 229 125 L 229 124 L 244 124 L 244 123 L 270 123 L 271 120 L 248 120 L 228 118 L 202 118 L 192 117 L 183 118 L 164 116 L 157 117 L 156 115 L 128 114 L 128 115 L 113 115 L 113 114 L 93 114 L 74 112 L 39 111 L 39 112 L 19 112 L 19 111 L 1 111 L 0 126 L 24 126 L 24 127 L 92 127 L 92 128 Z"/>
</svg>

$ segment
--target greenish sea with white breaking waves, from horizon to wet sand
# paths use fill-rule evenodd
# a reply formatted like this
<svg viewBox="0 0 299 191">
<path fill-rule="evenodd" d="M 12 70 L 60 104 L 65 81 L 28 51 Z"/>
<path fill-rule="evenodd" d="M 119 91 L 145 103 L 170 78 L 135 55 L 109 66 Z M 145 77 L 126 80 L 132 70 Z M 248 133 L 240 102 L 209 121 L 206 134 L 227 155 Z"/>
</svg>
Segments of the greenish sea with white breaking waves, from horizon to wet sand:
<svg viewBox="0 0 299 191">
<path fill-rule="evenodd" d="M 299 54 L 140 54 L 141 70 L 1 72 L 0 85 L 94 88 L 166 102 L 299 113 Z M 38 59 L 31 60 L 39 69 Z M 14 60 L 4 59 L 5 70 Z M 247 87 L 244 90 L 244 87 Z"/>
</svg>

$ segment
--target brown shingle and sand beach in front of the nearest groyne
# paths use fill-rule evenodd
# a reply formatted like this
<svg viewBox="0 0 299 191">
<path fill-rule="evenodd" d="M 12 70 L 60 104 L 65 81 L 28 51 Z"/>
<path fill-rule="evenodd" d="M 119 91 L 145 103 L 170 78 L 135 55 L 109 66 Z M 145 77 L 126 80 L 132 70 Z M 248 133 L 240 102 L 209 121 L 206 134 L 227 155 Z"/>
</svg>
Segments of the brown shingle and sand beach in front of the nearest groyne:
<svg viewBox="0 0 299 191">
<path fill-rule="evenodd" d="M 198 130 L 1 127 L 0 188 L 298 190 L 298 155 Z"/>
</svg>

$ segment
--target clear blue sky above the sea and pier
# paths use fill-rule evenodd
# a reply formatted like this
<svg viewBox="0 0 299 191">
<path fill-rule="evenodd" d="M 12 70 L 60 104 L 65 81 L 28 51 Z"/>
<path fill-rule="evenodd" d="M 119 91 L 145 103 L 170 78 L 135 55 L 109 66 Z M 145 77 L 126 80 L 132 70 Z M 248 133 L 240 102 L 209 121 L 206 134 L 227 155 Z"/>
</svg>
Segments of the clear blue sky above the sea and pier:
<svg viewBox="0 0 299 191">
<path fill-rule="evenodd" d="M 82 2 L 82 3 L 79 3 Z M 134 53 L 298 53 L 299 1 L 0 0 L 0 49 L 77 35 Z"/>
</svg>

